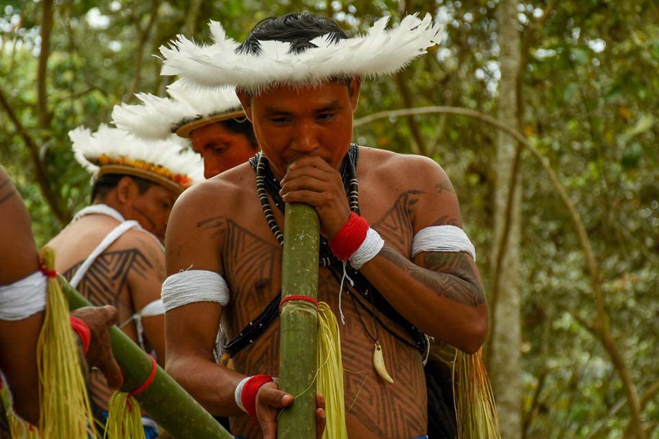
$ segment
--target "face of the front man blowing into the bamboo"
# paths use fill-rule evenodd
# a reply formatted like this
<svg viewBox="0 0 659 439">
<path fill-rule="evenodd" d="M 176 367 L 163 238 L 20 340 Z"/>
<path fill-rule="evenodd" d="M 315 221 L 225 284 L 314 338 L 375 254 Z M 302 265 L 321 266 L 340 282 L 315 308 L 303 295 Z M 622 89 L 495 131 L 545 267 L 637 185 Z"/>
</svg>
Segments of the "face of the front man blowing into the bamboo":
<svg viewBox="0 0 659 439">
<path fill-rule="evenodd" d="M 288 163 L 303 156 L 319 156 L 338 169 L 352 139 L 359 87 L 354 79 L 349 86 L 324 82 L 275 86 L 253 97 L 239 93 L 275 176 L 283 177 Z"/>
</svg>

